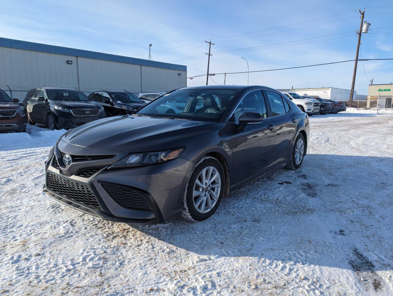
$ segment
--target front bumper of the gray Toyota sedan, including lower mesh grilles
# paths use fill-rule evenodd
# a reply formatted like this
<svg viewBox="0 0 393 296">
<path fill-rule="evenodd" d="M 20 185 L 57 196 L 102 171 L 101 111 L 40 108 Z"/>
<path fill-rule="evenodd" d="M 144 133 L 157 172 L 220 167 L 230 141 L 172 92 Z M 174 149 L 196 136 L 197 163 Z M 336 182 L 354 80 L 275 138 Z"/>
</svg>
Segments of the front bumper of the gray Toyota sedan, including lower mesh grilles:
<svg viewBox="0 0 393 296">
<path fill-rule="evenodd" d="M 123 156 L 116 156 L 114 160 Z M 67 169 L 62 169 L 61 160 L 57 162 L 57 159 L 55 155 L 46 164 L 46 182 L 43 188 L 45 193 L 72 208 L 103 220 L 142 224 L 165 222 L 181 216 L 185 187 L 194 165 L 182 158 L 127 169 L 107 170 L 107 165 L 92 176 L 82 177 L 78 176 L 78 173 L 69 175 Z M 53 178 L 60 178 L 60 185 L 63 188 L 65 186 L 66 190 L 53 186 Z M 108 190 L 108 185 L 115 188 L 115 191 Z M 123 189 L 125 191 L 121 191 Z M 94 196 L 95 203 L 78 197 L 79 193 L 85 194 L 85 191 L 91 192 L 90 197 Z M 138 201 L 134 202 L 134 195 L 123 195 L 124 192 L 136 192 Z M 141 202 L 142 197 L 149 204 L 149 209 L 132 208 Z"/>
</svg>

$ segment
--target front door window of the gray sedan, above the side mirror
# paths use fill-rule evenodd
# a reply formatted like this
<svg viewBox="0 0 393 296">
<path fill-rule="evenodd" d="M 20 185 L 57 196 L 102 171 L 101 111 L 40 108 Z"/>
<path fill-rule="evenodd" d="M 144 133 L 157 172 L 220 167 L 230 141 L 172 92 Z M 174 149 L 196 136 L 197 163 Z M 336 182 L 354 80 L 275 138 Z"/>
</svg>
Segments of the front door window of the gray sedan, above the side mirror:
<svg viewBox="0 0 393 296">
<path fill-rule="evenodd" d="M 263 118 L 268 117 L 266 103 L 261 90 L 249 92 L 242 98 L 233 113 L 231 121 L 239 123 L 239 118 L 244 112 L 257 112 L 261 114 Z"/>
</svg>

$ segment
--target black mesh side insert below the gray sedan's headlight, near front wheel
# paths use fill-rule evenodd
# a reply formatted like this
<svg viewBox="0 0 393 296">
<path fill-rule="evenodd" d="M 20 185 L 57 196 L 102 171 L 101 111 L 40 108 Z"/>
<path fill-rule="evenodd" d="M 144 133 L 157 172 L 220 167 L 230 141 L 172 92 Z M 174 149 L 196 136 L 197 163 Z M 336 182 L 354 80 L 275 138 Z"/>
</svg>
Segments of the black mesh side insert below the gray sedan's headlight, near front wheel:
<svg viewBox="0 0 393 296">
<path fill-rule="evenodd" d="M 120 206 L 133 210 L 151 210 L 149 202 L 147 202 L 143 193 L 117 184 L 101 183 L 101 185 Z"/>
</svg>

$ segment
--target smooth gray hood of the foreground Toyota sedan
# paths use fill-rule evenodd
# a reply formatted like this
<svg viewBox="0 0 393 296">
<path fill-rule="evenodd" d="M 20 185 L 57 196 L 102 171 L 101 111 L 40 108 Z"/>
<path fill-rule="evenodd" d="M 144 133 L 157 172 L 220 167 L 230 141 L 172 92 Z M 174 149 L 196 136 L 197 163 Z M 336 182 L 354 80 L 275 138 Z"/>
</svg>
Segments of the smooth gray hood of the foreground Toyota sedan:
<svg viewBox="0 0 393 296">
<path fill-rule="evenodd" d="M 73 129 L 62 141 L 95 149 L 126 152 L 159 151 L 181 147 L 186 138 L 202 133 L 211 122 L 115 116 Z"/>
</svg>

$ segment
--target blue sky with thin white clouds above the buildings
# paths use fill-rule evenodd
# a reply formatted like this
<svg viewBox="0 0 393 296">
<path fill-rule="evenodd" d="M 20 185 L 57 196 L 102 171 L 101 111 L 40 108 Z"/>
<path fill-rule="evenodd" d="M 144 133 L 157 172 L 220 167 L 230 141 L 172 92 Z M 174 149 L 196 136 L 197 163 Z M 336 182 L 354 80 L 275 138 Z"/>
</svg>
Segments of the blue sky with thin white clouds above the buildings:
<svg viewBox="0 0 393 296">
<path fill-rule="evenodd" d="M 247 71 L 241 57 L 250 71 L 354 59 L 363 7 L 371 23 L 362 36 L 363 58 L 393 58 L 391 1 L 2 1 L 0 36 L 140 58 L 152 43 L 156 61 L 195 57 L 176 62 L 193 76 L 206 73 L 209 39 L 215 43 L 210 73 Z M 257 46 L 265 48 L 248 50 Z M 220 53 L 239 48 L 247 50 Z M 359 62 L 360 94 L 367 94 L 369 79 L 393 81 L 393 61 L 367 61 L 364 68 Z M 350 88 L 352 74 L 349 62 L 251 73 L 250 85 Z M 224 75 L 211 78 L 224 81 Z M 227 81 L 246 84 L 247 74 Z M 187 79 L 189 86 L 205 83 L 206 77 Z"/>
</svg>

